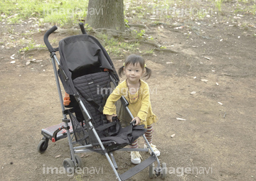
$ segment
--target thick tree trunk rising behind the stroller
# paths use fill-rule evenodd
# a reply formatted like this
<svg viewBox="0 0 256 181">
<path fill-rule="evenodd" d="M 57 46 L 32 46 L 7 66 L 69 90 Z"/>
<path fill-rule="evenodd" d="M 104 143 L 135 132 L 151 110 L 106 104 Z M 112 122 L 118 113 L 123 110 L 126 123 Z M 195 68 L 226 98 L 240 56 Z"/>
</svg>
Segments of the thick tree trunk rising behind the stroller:
<svg viewBox="0 0 256 181">
<path fill-rule="evenodd" d="M 86 23 L 92 28 L 124 31 L 124 1 L 89 0 Z"/>
</svg>

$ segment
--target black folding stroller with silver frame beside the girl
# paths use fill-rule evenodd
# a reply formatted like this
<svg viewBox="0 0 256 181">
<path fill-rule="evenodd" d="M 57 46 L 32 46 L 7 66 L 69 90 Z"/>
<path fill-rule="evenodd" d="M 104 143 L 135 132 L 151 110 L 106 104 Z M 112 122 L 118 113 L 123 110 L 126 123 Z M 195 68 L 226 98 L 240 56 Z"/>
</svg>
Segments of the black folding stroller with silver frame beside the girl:
<svg viewBox="0 0 256 181">
<path fill-rule="evenodd" d="M 144 136 L 146 131 L 144 126 L 134 126 L 132 122 L 122 128 L 117 117 L 108 123 L 106 116 L 102 114 L 107 97 L 112 87 L 116 87 L 119 83 L 119 77 L 105 48 L 96 38 L 87 35 L 83 23 L 79 25 L 82 34 L 60 40 L 58 48 L 53 48 L 48 41 L 49 35 L 57 30 L 57 26 L 50 28 L 43 37 L 53 63 L 63 119 L 61 124 L 41 130 L 43 138 L 38 144 L 38 152 L 46 151 L 49 140 L 55 142 L 68 137 L 70 158 L 63 160 L 67 172 L 71 172 L 74 168 L 82 168 L 82 160 L 77 153 L 91 151 L 106 156 L 118 180 L 127 180 L 147 167 L 150 178 L 154 177 L 155 173 L 156 176 L 165 179 L 166 163 L 160 164 Z M 55 54 L 57 51 L 60 53 L 60 61 Z M 59 79 L 65 92 L 70 96 L 69 100 L 65 100 L 68 101 L 68 106 L 63 104 Z M 124 97 L 121 98 L 121 102 L 132 120 L 133 116 L 128 109 L 129 103 Z M 148 148 L 124 148 L 140 136 L 144 138 Z M 74 137 L 75 141 L 73 141 Z M 79 146 L 73 147 L 73 145 Z M 117 172 L 118 166 L 113 151 L 147 152 L 149 149 L 151 150 L 149 158 L 121 175 Z M 156 168 L 154 162 L 157 162 Z"/>
</svg>

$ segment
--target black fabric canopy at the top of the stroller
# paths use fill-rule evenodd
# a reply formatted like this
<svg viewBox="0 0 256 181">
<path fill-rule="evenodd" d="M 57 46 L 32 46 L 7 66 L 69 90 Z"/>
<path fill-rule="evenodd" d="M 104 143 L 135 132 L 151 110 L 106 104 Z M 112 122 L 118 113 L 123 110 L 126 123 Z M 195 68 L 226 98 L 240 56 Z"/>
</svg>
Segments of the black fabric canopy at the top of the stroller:
<svg viewBox="0 0 256 181">
<path fill-rule="evenodd" d="M 107 69 L 119 81 L 114 65 L 100 42 L 91 35 L 73 35 L 60 40 L 60 70 L 58 74 L 65 92 L 76 94 L 73 79 L 92 70 Z M 64 72 L 64 73 L 63 73 Z"/>
</svg>

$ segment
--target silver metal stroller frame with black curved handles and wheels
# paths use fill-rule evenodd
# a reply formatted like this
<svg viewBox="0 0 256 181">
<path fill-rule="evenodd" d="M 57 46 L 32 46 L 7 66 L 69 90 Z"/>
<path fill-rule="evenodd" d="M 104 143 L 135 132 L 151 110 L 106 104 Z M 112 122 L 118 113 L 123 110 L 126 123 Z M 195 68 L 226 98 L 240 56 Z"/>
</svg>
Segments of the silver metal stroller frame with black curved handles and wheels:
<svg viewBox="0 0 256 181">
<path fill-rule="evenodd" d="M 83 23 L 80 23 L 80 29 L 82 31 L 82 34 L 86 34 L 85 32 L 85 28 L 83 26 Z M 71 128 L 71 124 L 70 124 L 70 119 L 68 119 L 67 117 L 67 110 L 65 109 L 65 106 L 63 104 L 63 95 L 60 89 L 60 81 L 59 81 L 59 77 L 58 77 L 58 70 L 56 67 L 56 63 L 58 65 L 58 67 L 60 67 L 60 62 L 55 54 L 56 51 L 58 51 L 58 48 L 53 48 L 49 41 L 48 41 L 48 37 L 51 33 L 53 33 L 54 31 L 56 31 L 58 28 L 57 26 L 53 26 L 52 28 L 50 28 L 46 34 L 43 37 L 43 40 L 50 52 L 50 57 L 51 57 L 51 61 L 53 64 L 53 71 L 54 71 L 54 75 L 55 75 L 55 82 L 57 84 L 57 88 L 58 88 L 58 95 L 59 95 L 59 99 L 60 99 L 60 106 L 63 112 L 63 124 L 60 124 L 58 126 L 52 126 L 53 127 L 53 131 L 47 131 L 48 129 L 42 129 L 42 134 L 43 134 L 43 138 L 42 141 L 38 144 L 38 152 L 39 153 L 44 153 L 45 150 L 48 147 L 48 140 L 52 140 L 53 142 L 58 141 L 61 138 L 65 138 L 68 137 L 68 144 L 70 147 L 70 155 L 71 155 L 71 159 L 70 158 L 66 158 L 63 161 L 63 165 L 64 167 L 67 169 L 68 168 L 76 168 L 76 167 L 81 167 L 82 165 L 82 161 L 80 160 L 78 155 L 75 155 L 76 153 L 87 153 L 90 152 L 92 150 L 88 150 L 87 148 L 92 148 L 95 145 L 92 144 L 88 144 L 85 146 L 76 146 L 73 147 L 73 138 L 71 138 L 71 134 L 73 133 L 73 128 Z M 64 72 L 65 75 L 65 72 Z M 114 86 L 117 86 L 117 83 L 113 77 L 110 76 L 110 79 L 112 80 L 112 82 L 114 83 Z M 89 124 L 89 129 L 92 130 L 92 132 L 95 134 L 95 137 L 97 138 L 97 141 L 99 143 L 99 146 L 101 148 L 101 150 L 103 151 L 104 155 L 106 156 L 108 162 L 110 163 L 112 170 L 114 171 L 114 174 L 116 175 L 117 179 L 119 181 L 121 180 L 127 180 L 129 177 L 132 177 L 133 175 L 136 175 L 138 172 L 144 170 L 144 168 L 149 166 L 149 177 L 154 177 L 153 172 L 155 172 L 156 176 L 161 175 L 161 178 L 165 179 L 166 178 L 166 164 L 162 163 L 162 165 L 160 164 L 159 158 L 157 158 L 157 156 L 154 153 L 154 150 L 151 148 L 149 142 L 146 139 L 146 136 L 143 135 L 142 137 L 144 138 L 145 143 L 147 144 L 148 148 L 151 150 L 151 155 L 149 158 L 147 158 L 146 160 L 142 161 L 142 163 L 139 163 L 138 165 L 135 165 L 132 169 L 128 170 L 127 172 L 124 172 L 122 175 L 119 175 L 119 173 L 117 172 L 117 163 L 114 160 L 114 155 L 112 152 L 107 153 L 104 143 L 100 140 L 100 137 L 97 134 L 97 131 L 95 130 L 95 127 L 92 125 L 91 122 L 91 117 L 90 114 L 88 113 L 87 109 L 85 108 L 85 105 L 83 104 L 82 100 L 79 97 L 75 97 L 75 99 L 77 100 L 78 104 L 80 105 L 80 108 L 83 110 L 83 116 L 85 118 L 85 120 L 87 121 L 87 123 Z M 131 116 L 131 118 L 133 119 L 132 113 L 131 111 L 129 111 L 128 108 L 128 102 L 127 100 L 122 96 L 121 98 L 122 100 L 122 104 L 124 104 L 125 109 L 127 110 L 127 112 L 129 113 L 129 115 Z M 55 130 L 54 130 L 55 128 Z M 60 133 L 61 130 L 65 130 L 64 133 Z M 48 133 L 50 132 L 50 133 Z M 121 148 L 118 151 L 148 151 L 148 148 Z M 109 155 L 110 154 L 110 155 Z M 157 167 L 154 169 L 154 162 L 157 162 Z"/>
</svg>

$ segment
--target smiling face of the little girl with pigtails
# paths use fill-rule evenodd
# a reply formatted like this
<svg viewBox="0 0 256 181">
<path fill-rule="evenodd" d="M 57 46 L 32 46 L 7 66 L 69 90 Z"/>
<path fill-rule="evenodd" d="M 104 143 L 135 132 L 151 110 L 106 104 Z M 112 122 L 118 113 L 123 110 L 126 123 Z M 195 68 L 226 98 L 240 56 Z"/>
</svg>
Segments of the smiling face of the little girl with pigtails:
<svg viewBox="0 0 256 181">
<path fill-rule="evenodd" d="M 127 77 L 127 80 L 130 83 L 136 84 L 139 82 L 139 79 L 142 77 L 144 70 L 139 65 L 139 63 L 136 63 L 135 65 L 128 64 L 126 67 L 124 67 L 124 73 Z"/>
</svg>

